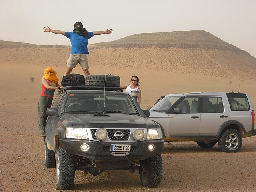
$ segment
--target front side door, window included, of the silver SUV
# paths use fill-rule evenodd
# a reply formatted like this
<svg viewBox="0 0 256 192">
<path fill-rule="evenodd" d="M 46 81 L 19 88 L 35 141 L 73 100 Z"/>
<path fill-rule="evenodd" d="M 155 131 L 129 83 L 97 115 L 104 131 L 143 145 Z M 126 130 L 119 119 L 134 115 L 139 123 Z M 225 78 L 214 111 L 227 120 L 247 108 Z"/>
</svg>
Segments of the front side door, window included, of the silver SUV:
<svg viewBox="0 0 256 192">
<path fill-rule="evenodd" d="M 198 112 L 199 97 L 185 97 L 174 108 L 182 109 L 181 113 L 169 113 L 168 136 L 178 140 L 199 138 L 200 113 Z M 167 135 L 167 134 L 166 134 Z"/>
</svg>

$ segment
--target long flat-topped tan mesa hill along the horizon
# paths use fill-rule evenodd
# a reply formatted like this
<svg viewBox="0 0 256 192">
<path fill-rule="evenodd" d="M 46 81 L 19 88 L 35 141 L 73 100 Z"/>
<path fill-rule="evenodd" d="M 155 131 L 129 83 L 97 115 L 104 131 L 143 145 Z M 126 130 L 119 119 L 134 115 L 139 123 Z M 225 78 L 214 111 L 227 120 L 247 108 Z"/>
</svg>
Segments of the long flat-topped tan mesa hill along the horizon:
<svg viewBox="0 0 256 192">
<path fill-rule="evenodd" d="M 0 40 L 0 63 L 66 66 L 70 49 L 71 46 Z M 140 68 L 172 74 L 256 79 L 255 57 L 203 30 L 134 34 L 89 45 L 88 50 L 91 68 L 107 65 L 120 70 Z"/>
</svg>

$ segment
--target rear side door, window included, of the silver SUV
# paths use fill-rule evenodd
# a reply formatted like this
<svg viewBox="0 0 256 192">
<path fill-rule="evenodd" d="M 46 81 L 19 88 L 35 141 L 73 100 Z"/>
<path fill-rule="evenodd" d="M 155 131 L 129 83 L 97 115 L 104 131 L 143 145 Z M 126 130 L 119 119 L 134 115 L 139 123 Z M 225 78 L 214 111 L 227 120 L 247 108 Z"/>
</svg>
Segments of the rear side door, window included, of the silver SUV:
<svg viewBox="0 0 256 192">
<path fill-rule="evenodd" d="M 220 126 L 230 120 L 228 101 L 224 96 L 202 96 L 200 104 L 200 138 L 216 138 Z"/>
</svg>

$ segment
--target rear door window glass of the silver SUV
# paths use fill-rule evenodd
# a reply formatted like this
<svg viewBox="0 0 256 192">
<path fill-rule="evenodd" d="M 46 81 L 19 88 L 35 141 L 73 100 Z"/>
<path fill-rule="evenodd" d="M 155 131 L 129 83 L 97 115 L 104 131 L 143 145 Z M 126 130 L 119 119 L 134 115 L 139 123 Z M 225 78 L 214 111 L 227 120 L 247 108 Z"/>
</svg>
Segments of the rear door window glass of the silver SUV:
<svg viewBox="0 0 256 192">
<path fill-rule="evenodd" d="M 221 97 L 202 97 L 202 113 L 220 113 L 223 111 Z"/>
</svg>

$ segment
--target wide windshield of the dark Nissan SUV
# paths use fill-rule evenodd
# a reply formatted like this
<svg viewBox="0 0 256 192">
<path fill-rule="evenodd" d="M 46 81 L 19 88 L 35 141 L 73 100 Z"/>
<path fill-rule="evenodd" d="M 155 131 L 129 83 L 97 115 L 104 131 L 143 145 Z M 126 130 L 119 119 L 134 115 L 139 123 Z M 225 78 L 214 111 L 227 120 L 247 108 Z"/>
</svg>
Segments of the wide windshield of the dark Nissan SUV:
<svg viewBox="0 0 256 192">
<path fill-rule="evenodd" d="M 105 109 L 104 109 L 105 104 Z M 137 114 L 131 98 L 124 94 L 75 93 L 68 94 L 64 112 L 66 113 L 128 113 Z"/>
</svg>

